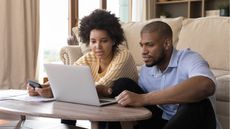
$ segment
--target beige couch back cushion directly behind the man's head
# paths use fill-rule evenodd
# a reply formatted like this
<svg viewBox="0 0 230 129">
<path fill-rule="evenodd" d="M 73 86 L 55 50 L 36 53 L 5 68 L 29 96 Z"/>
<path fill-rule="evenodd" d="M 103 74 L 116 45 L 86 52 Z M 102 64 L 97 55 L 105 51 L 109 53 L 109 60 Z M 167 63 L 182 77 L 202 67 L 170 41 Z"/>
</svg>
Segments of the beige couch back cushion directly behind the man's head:
<svg viewBox="0 0 230 129">
<path fill-rule="evenodd" d="M 122 28 L 125 32 L 125 37 L 127 40 L 127 47 L 130 50 L 131 54 L 134 57 L 134 60 L 137 65 L 142 65 L 142 57 L 141 57 L 141 47 L 139 46 L 140 42 L 140 31 L 144 27 L 144 25 L 153 22 L 153 21 L 163 21 L 168 23 L 173 30 L 173 43 L 176 45 L 178 41 L 178 35 L 182 26 L 182 17 L 171 18 L 171 19 L 152 19 L 143 22 L 129 22 L 122 25 Z"/>
</svg>

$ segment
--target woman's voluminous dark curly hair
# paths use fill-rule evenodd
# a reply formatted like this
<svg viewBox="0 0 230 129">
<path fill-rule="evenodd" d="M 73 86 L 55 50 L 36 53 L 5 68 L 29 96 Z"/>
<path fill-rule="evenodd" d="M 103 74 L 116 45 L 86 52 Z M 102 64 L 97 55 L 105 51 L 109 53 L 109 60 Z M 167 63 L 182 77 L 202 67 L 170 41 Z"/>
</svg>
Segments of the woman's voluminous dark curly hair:
<svg viewBox="0 0 230 129">
<path fill-rule="evenodd" d="M 90 41 L 90 32 L 93 29 L 105 30 L 115 43 L 113 48 L 117 48 L 119 44 L 125 41 L 124 31 L 119 19 L 108 11 L 96 9 L 90 15 L 82 18 L 79 37 L 87 46 Z"/>
</svg>

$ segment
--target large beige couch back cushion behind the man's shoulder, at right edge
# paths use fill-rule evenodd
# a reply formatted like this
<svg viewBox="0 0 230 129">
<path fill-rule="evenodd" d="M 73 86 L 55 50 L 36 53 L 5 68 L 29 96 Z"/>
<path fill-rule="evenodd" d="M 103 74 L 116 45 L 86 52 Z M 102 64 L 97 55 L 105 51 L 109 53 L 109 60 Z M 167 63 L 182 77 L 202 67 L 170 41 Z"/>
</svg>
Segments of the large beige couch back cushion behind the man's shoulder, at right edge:
<svg viewBox="0 0 230 129">
<path fill-rule="evenodd" d="M 177 48 L 191 48 L 199 52 L 211 68 L 230 70 L 229 30 L 229 17 L 184 20 Z"/>
</svg>

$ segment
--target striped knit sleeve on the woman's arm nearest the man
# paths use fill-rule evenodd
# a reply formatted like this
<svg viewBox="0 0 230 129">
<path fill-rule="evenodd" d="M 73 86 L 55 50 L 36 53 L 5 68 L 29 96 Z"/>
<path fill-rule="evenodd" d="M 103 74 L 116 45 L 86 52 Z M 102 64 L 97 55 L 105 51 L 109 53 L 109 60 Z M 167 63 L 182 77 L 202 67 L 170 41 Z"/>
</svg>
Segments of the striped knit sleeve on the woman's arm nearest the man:
<svg viewBox="0 0 230 129">
<path fill-rule="evenodd" d="M 122 50 L 111 61 L 106 74 L 96 82 L 96 85 L 112 86 L 113 81 L 127 77 L 137 81 L 137 69 L 133 57 L 127 50 Z"/>
</svg>

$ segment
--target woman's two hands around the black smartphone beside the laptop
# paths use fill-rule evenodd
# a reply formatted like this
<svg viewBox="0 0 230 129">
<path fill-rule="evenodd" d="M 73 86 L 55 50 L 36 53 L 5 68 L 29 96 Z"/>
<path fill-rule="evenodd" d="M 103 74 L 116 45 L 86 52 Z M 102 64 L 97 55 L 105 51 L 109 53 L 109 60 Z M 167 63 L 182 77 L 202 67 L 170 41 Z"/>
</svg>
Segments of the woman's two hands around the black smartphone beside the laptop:
<svg viewBox="0 0 230 129">
<path fill-rule="evenodd" d="M 50 88 L 49 83 L 45 83 L 42 85 L 42 88 L 33 88 L 31 87 L 29 84 L 27 84 L 27 90 L 30 96 L 42 96 L 42 97 L 46 97 L 46 98 L 52 98 L 53 97 L 53 93 L 52 90 Z"/>
</svg>

